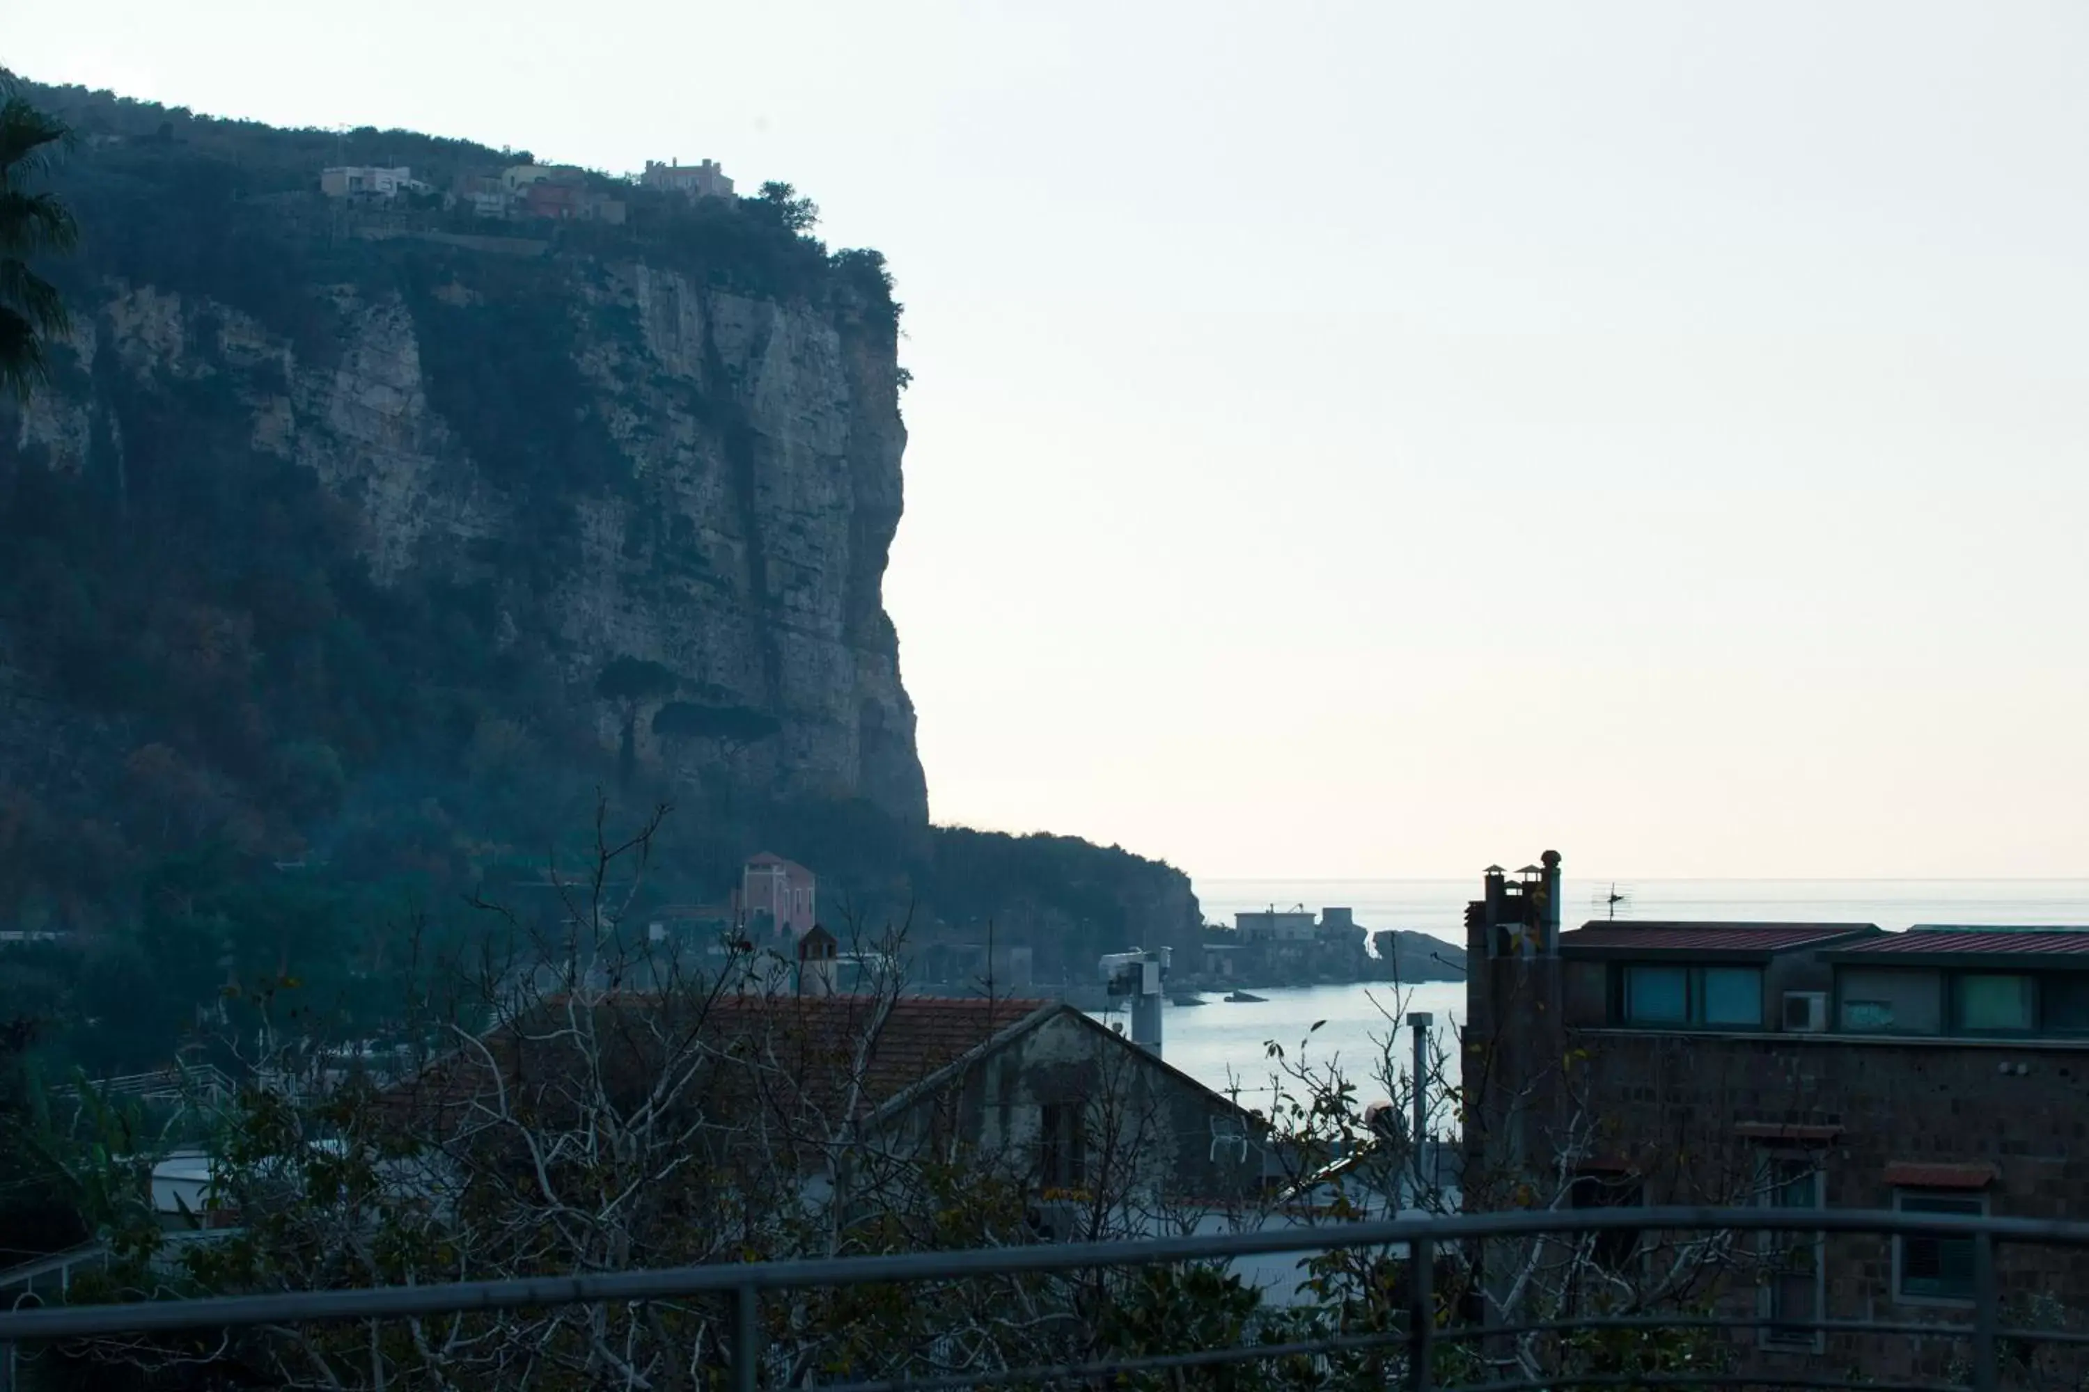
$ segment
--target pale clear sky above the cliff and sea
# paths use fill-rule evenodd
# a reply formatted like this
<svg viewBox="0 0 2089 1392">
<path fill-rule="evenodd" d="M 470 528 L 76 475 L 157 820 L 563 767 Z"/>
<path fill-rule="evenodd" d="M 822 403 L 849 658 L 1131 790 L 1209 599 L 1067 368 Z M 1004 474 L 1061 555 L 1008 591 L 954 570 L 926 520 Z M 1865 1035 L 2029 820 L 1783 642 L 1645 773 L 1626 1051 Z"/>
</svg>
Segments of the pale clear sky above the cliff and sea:
<svg viewBox="0 0 2089 1392">
<path fill-rule="evenodd" d="M 938 820 L 2083 872 L 2079 0 L 77 0 L 0 63 L 712 157 L 886 250 Z"/>
</svg>

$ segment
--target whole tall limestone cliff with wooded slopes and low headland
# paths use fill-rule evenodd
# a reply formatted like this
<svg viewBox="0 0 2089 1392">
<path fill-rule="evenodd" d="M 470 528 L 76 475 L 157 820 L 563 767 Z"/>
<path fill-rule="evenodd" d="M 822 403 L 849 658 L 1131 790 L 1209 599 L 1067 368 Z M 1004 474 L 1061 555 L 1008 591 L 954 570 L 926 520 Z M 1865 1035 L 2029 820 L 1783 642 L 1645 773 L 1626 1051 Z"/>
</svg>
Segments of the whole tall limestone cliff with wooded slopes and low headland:
<svg viewBox="0 0 2089 1392">
<path fill-rule="evenodd" d="M 783 188 L 562 171 L 627 217 L 483 221 L 526 152 L 29 94 L 79 134 L 81 244 L 42 265 L 48 390 L 0 401 L 0 925 L 144 954 L 84 1014 L 182 1016 L 232 960 L 363 989 L 368 922 L 585 860 L 602 789 L 612 831 L 679 808 L 664 902 L 767 847 L 838 922 L 1051 979 L 1195 941 L 1178 870 L 928 824 L 877 253 Z M 334 165 L 414 188 L 328 198 Z"/>
</svg>

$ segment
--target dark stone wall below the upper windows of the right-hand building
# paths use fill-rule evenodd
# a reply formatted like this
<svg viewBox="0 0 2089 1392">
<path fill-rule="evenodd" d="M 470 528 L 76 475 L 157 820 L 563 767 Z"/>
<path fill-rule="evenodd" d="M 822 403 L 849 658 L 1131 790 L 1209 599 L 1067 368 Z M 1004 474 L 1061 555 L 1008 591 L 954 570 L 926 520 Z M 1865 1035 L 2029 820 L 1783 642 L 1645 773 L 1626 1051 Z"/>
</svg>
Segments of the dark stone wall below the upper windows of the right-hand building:
<svg viewBox="0 0 2089 1392">
<path fill-rule="evenodd" d="M 1993 1183 L 1966 1190 L 1985 1194 L 1991 1215 L 2089 1215 L 2089 1041 L 1617 1029 L 1571 1031 L 1569 1041 L 1586 1052 L 1577 1096 L 1611 1127 L 1617 1158 L 1648 1175 L 1648 1204 L 1746 1202 L 1753 1194 L 1734 1183 L 1748 1158 L 1778 1152 L 1817 1162 L 1830 1208 L 1893 1208 L 1895 1167 L 1993 1165 Z M 1899 1302 L 1888 1238 L 1832 1235 L 1824 1269 L 1828 1319 L 1972 1317 Z M 2089 1327 L 2089 1252 L 2003 1244 L 1997 1277 L 2005 1323 L 2051 1319 L 2058 1304 L 2070 1327 Z M 1755 1292 L 1732 1292 L 1728 1306 L 1753 1313 Z M 1748 1348 L 1771 1367 L 1817 1369 L 1826 1359 L 1870 1377 L 1947 1379 L 1966 1357 L 1964 1344 L 1907 1336 L 1830 1336 L 1811 1357 L 1757 1352 L 1753 1340 Z M 2047 1367 L 2060 1361 L 2047 1357 Z"/>
</svg>

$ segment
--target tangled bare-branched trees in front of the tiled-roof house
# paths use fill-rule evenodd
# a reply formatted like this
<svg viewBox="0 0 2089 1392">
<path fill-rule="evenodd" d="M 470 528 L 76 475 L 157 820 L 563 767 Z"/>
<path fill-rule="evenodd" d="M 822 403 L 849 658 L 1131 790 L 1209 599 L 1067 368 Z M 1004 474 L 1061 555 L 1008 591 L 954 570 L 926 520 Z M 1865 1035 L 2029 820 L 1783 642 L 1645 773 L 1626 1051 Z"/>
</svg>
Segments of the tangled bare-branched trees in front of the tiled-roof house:
<svg viewBox="0 0 2089 1392">
<path fill-rule="evenodd" d="M 301 1039 L 288 983 L 240 993 L 232 1006 L 249 1014 L 232 1033 L 249 1041 L 251 1066 L 209 1135 L 207 1198 L 238 1215 L 236 1231 L 163 1244 L 138 1202 L 138 1162 L 125 1181 L 107 1156 L 100 1169 L 81 1160 L 81 1192 L 109 1175 L 96 1217 L 117 1258 L 77 1279 L 73 1298 L 1013 1246 L 1036 1240 L 1040 1208 L 1076 1240 L 1184 1231 L 1193 1215 L 1157 1196 L 1157 1100 L 1143 1089 L 1153 1071 L 1132 1050 L 1097 1048 L 1070 1114 L 1084 1169 L 1047 1200 L 1032 1137 L 963 1139 L 957 1119 L 982 1075 L 902 1089 L 907 1110 L 867 1106 L 902 985 L 898 933 L 869 954 L 884 966 L 859 991 L 808 1002 L 744 941 L 721 941 L 719 954 L 662 943 L 629 914 L 658 816 L 618 839 L 597 810 L 591 860 L 577 874 L 554 866 L 556 920 L 485 906 L 510 945 L 420 983 L 393 1031 L 405 1052 L 389 1077 L 345 1075 L 330 1050 Z M 804 1290 L 762 1306 L 762 1382 L 1078 1363 L 1176 1329 L 1239 1329 L 1258 1302 L 1239 1281 L 1132 1271 Z M 1113 1319 L 1116 1309 L 1136 1313 Z M 102 1371 L 205 1365 L 213 1386 L 694 1390 L 719 1386 L 731 1329 L 729 1302 L 698 1296 L 107 1340 L 86 1352 Z"/>
</svg>

